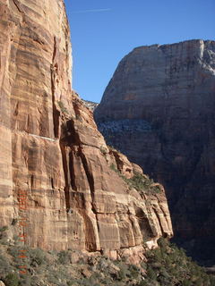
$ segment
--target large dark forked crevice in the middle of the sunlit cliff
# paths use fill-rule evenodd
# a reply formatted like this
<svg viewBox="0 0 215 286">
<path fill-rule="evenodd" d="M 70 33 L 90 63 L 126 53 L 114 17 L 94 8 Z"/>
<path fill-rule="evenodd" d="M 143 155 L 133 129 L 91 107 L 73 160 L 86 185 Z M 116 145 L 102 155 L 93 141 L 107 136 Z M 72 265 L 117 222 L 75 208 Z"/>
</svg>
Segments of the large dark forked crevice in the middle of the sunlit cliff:
<svg viewBox="0 0 215 286">
<path fill-rule="evenodd" d="M 62 152 L 63 158 L 63 166 L 64 166 L 64 181 L 65 181 L 65 188 L 64 188 L 64 196 L 66 201 L 66 209 L 67 211 L 71 209 L 71 207 L 75 207 L 77 212 L 82 215 L 85 225 L 85 248 L 90 251 L 94 252 L 97 250 L 96 246 L 96 237 L 94 231 L 92 231 L 92 222 L 88 214 L 85 213 L 85 196 L 83 193 L 78 192 L 78 188 L 75 182 L 75 163 L 74 163 L 74 156 L 79 156 L 82 160 L 82 166 L 84 172 L 86 173 L 86 177 L 90 186 L 90 194 L 91 200 L 94 201 L 94 180 L 92 173 L 90 172 L 89 163 L 87 161 L 86 156 L 82 151 L 82 142 L 80 140 L 78 132 L 75 130 L 75 122 L 73 119 L 70 119 L 62 124 L 61 127 L 61 139 L 60 139 L 60 147 Z M 68 148 L 68 151 L 66 150 Z M 69 152 L 69 154 L 68 154 Z M 70 189 L 73 189 L 72 193 L 70 193 Z M 80 198 L 80 196 L 82 198 Z M 76 202 L 75 202 L 76 201 Z M 80 205 L 80 203 L 82 205 Z M 95 207 L 92 203 L 92 212 L 96 214 Z M 97 218 L 97 227 L 98 225 L 98 218 Z"/>
</svg>

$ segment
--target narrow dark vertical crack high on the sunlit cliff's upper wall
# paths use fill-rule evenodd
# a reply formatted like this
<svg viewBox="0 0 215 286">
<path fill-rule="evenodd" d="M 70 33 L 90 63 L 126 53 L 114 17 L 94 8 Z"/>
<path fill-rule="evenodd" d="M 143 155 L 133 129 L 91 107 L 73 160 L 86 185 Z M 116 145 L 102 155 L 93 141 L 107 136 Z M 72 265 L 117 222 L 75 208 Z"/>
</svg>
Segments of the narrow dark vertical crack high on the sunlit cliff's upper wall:
<svg viewBox="0 0 215 286">
<path fill-rule="evenodd" d="M 60 112 L 56 109 L 56 67 L 55 64 L 56 59 L 56 37 L 54 37 L 54 50 L 52 63 L 50 67 L 51 71 L 51 90 L 52 90 L 52 107 L 53 107 L 53 124 L 54 124 L 54 135 L 55 138 L 59 138 L 59 121 L 60 121 Z"/>
</svg>

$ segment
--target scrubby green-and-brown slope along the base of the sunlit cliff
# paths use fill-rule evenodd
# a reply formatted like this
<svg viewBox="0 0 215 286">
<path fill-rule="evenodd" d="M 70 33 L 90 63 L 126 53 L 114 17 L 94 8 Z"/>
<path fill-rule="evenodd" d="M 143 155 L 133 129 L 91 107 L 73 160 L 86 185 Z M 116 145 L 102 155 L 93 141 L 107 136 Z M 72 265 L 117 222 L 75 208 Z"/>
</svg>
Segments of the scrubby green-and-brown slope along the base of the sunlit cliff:
<svg viewBox="0 0 215 286">
<path fill-rule="evenodd" d="M 130 265 L 125 260 L 87 257 L 77 251 L 28 248 L 27 274 L 19 273 L 19 250 L 0 233 L 0 280 L 6 286 L 214 286 L 215 279 L 185 256 L 182 249 L 159 240 L 159 249 L 146 252 L 148 261 Z"/>
</svg>

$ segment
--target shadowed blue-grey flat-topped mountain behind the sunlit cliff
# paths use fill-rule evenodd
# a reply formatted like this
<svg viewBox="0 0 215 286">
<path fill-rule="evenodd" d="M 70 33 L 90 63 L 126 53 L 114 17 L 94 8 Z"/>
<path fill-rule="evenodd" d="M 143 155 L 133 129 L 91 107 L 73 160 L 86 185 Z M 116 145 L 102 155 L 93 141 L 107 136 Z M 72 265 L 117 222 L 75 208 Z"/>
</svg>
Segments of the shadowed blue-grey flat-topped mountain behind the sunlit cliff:
<svg viewBox="0 0 215 286">
<path fill-rule="evenodd" d="M 202 40 L 135 48 L 95 110 L 107 143 L 165 185 L 176 238 L 204 249 L 205 259 L 214 245 L 207 252 L 215 227 L 214 110 L 215 42 Z"/>
</svg>

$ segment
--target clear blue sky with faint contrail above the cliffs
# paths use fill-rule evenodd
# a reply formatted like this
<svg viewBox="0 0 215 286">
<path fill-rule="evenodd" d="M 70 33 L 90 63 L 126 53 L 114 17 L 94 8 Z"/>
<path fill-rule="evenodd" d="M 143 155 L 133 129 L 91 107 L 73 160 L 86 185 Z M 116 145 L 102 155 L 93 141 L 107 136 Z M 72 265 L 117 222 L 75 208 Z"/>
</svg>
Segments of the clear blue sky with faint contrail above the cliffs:
<svg viewBox="0 0 215 286">
<path fill-rule="evenodd" d="M 65 5 L 73 89 L 90 101 L 100 101 L 117 64 L 136 46 L 215 39 L 214 0 L 65 0 Z M 107 11 L 92 11 L 97 9 Z"/>
</svg>

